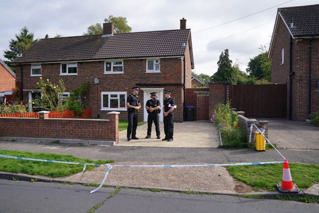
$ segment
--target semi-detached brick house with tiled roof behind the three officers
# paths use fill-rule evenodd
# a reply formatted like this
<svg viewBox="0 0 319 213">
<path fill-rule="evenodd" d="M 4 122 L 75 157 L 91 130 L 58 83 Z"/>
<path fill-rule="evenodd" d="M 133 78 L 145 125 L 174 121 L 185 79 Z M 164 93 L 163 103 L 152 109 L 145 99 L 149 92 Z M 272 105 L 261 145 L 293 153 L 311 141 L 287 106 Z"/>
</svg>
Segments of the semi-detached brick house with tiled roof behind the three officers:
<svg viewBox="0 0 319 213">
<path fill-rule="evenodd" d="M 119 118 L 127 119 L 126 98 L 138 86 L 144 106 L 139 119 L 147 121 L 150 93 L 157 92 L 162 104 L 163 90 L 169 89 L 177 104 L 175 122 L 184 119 L 185 89 L 191 88 L 194 68 L 191 33 L 184 18 L 180 29 L 174 30 L 114 34 L 113 23 L 104 23 L 103 35 L 39 39 L 13 64 L 25 102 L 39 93 L 35 89 L 39 77 L 55 84 L 63 79 L 67 92 L 88 82 L 86 105 L 93 118 L 119 111 Z"/>
</svg>

